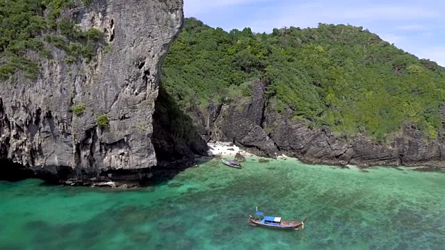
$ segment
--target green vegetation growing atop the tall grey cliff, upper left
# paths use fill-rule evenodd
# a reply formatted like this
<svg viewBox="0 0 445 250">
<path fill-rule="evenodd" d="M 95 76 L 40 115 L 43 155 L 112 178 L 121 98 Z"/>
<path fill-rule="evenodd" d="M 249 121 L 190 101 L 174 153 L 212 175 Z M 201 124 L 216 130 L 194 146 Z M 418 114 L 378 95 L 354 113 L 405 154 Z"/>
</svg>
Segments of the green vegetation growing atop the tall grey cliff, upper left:
<svg viewBox="0 0 445 250">
<path fill-rule="evenodd" d="M 85 2 L 85 1 L 84 1 Z M 39 73 L 38 60 L 29 58 L 35 51 L 51 58 L 51 47 L 63 49 L 68 63 L 76 58 L 90 60 L 95 55 L 103 34 L 97 29 L 83 32 L 74 25 L 64 10 L 74 8 L 73 0 L 6 0 L 0 1 L 0 78 L 20 70 L 29 78 Z"/>
</svg>

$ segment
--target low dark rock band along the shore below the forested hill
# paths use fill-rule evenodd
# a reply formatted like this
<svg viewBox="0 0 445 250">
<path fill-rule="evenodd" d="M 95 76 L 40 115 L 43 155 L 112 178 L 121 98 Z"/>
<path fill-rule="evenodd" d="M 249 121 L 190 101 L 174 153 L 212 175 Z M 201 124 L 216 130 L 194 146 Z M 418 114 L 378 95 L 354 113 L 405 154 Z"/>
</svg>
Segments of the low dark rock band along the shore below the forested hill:
<svg viewBox="0 0 445 250">
<path fill-rule="evenodd" d="M 265 85 L 252 83 L 252 98 L 244 103 L 211 103 L 207 110 L 209 126 L 201 124 L 203 129 L 208 128 L 202 137 L 234 141 L 260 156 L 275 158 L 284 153 L 307 163 L 445 167 L 443 137 L 426 142 L 416 127 L 405 124 L 401 135 L 388 145 L 376 144 L 364 137 L 353 138 L 348 143 L 337 138 L 327 126 L 309 128 L 304 122 L 291 122 L 291 114 L 286 111 L 271 110 L 263 99 Z M 445 108 L 441 110 L 445 117 Z"/>
</svg>

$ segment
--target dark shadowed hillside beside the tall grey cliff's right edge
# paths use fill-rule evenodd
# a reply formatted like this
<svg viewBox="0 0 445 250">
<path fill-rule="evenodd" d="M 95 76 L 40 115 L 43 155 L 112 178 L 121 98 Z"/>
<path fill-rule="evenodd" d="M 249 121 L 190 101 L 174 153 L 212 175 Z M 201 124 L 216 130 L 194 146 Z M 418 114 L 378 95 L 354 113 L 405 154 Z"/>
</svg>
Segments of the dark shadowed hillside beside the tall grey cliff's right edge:
<svg viewBox="0 0 445 250">
<path fill-rule="evenodd" d="M 154 103 L 152 143 L 158 164 L 152 168 L 152 183 L 161 183 L 175 177 L 179 172 L 208 161 L 209 147 L 200 131 L 179 103 L 163 88 Z"/>
</svg>

